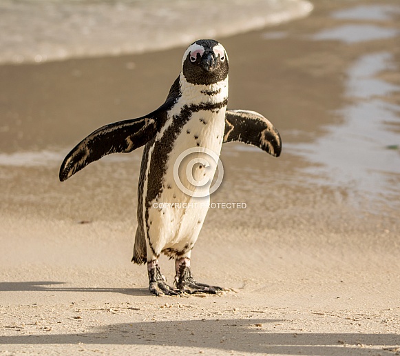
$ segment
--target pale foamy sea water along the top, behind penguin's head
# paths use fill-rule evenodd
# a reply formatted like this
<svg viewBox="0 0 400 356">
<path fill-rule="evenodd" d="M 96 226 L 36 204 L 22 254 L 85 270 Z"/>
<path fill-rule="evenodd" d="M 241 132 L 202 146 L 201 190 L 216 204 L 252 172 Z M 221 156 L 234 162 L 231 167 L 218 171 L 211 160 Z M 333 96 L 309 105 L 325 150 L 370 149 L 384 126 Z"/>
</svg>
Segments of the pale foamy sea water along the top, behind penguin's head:
<svg viewBox="0 0 400 356">
<path fill-rule="evenodd" d="M 1 0 L 0 63 L 162 50 L 312 9 L 306 0 Z"/>
</svg>

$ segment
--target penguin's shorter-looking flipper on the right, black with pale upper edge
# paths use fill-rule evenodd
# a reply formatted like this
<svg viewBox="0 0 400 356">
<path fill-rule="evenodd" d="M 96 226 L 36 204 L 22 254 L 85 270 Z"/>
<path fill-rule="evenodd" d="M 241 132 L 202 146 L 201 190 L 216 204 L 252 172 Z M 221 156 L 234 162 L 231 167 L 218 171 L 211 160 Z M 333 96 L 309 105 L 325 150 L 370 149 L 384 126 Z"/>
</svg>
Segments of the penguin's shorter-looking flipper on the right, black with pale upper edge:
<svg viewBox="0 0 400 356">
<path fill-rule="evenodd" d="M 282 150 L 282 141 L 277 129 L 255 111 L 227 110 L 224 143 L 231 141 L 257 146 L 274 157 L 279 157 Z"/>
</svg>

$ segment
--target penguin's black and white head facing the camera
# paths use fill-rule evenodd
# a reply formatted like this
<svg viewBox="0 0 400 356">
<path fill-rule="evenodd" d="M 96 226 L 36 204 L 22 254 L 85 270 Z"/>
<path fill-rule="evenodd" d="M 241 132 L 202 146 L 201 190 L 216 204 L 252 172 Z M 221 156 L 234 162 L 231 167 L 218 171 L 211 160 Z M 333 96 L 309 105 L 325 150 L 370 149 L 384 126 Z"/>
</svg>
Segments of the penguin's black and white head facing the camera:
<svg viewBox="0 0 400 356">
<path fill-rule="evenodd" d="M 224 46 L 213 39 L 191 43 L 182 59 L 182 73 L 192 84 L 210 85 L 228 76 L 228 56 Z"/>
</svg>

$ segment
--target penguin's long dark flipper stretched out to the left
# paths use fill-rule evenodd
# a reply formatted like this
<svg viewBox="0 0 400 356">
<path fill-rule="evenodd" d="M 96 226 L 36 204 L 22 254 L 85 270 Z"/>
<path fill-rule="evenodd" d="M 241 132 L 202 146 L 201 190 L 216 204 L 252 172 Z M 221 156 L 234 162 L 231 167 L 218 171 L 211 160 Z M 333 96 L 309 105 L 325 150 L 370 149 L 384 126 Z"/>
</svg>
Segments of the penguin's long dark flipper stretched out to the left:
<svg viewBox="0 0 400 356">
<path fill-rule="evenodd" d="M 154 115 L 110 123 L 98 128 L 65 157 L 60 168 L 60 181 L 65 181 L 105 155 L 127 153 L 143 146 L 156 132 L 157 122 Z"/>
</svg>

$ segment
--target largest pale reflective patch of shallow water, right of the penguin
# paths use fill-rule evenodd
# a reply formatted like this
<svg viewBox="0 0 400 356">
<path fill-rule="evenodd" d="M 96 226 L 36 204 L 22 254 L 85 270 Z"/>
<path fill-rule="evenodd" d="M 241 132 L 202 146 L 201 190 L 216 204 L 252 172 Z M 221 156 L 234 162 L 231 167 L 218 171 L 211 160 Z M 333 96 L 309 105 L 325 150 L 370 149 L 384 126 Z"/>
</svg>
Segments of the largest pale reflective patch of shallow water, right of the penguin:
<svg viewBox="0 0 400 356">
<path fill-rule="evenodd" d="M 390 129 L 390 122 L 399 123 L 400 106 L 387 103 L 382 97 L 400 90 L 375 76 L 390 68 L 388 52 L 366 55 L 348 70 L 346 95 L 354 102 L 340 110 L 345 121 L 326 127 L 328 133 L 311 144 L 289 145 L 319 166 L 308 172 L 324 176 L 336 186 L 354 186 L 370 195 L 400 192 L 399 186 L 388 184 L 386 177 L 400 174 L 400 134 Z"/>
</svg>

